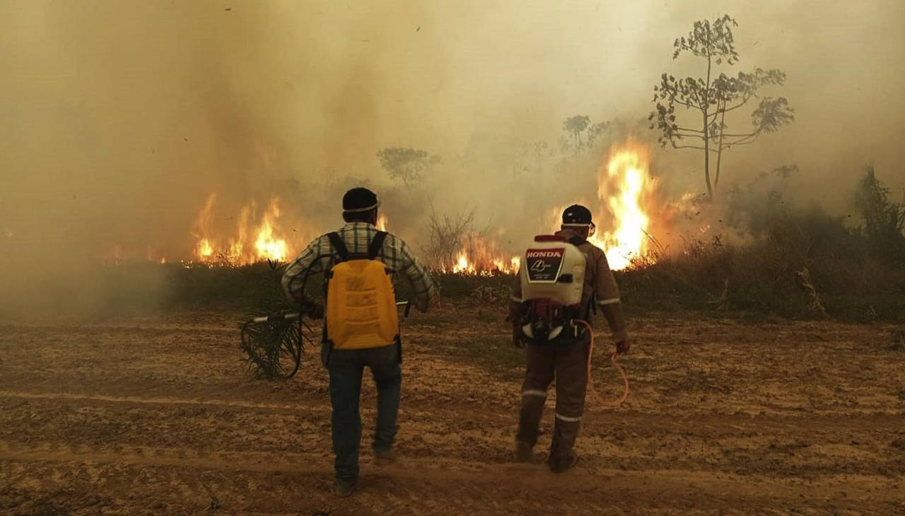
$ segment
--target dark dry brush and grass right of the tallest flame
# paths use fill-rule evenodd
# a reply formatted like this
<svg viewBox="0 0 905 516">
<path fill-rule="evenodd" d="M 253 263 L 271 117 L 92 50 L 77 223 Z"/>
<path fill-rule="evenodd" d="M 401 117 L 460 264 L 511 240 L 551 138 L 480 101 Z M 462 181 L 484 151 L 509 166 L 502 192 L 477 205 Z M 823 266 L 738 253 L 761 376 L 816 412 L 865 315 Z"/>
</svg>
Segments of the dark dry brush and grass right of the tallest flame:
<svg viewBox="0 0 905 516">
<path fill-rule="evenodd" d="M 783 214 L 755 243 L 684 239 L 617 273 L 633 310 L 714 310 L 795 318 L 905 319 L 905 268 L 873 256 L 856 230 L 819 212 Z"/>
</svg>

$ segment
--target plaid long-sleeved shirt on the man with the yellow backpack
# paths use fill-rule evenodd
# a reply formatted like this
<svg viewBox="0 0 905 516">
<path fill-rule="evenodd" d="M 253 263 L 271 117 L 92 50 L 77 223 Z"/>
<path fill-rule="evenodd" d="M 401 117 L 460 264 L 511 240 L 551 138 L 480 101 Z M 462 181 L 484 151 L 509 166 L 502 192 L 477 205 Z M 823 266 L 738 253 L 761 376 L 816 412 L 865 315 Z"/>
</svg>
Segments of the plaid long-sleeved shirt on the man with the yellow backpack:
<svg viewBox="0 0 905 516">
<path fill-rule="evenodd" d="M 367 222 L 348 222 L 337 232 L 346 242 L 349 253 L 367 253 L 367 246 L 374 239 L 377 229 Z M 305 277 L 328 271 L 336 264 L 337 258 L 336 249 L 333 249 L 326 234 L 314 239 L 289 267 L 286 267 L 282 277 L 283 290 L 291 299 L 301 300 L 303 297 L 301 288 L 305 283 Z M 397 275 L 402 273 L 412 284 L 415 307 L 421 311 L 427 310 L 427 306 L 437 296 L 437 290 L 433 285 L 433 278 L 414 258 L 405 241 L 393 233 L 387 233 L 383 249 L 380 250 L 377 259 L 390 269 L 394 285 Z"/>
</svg>

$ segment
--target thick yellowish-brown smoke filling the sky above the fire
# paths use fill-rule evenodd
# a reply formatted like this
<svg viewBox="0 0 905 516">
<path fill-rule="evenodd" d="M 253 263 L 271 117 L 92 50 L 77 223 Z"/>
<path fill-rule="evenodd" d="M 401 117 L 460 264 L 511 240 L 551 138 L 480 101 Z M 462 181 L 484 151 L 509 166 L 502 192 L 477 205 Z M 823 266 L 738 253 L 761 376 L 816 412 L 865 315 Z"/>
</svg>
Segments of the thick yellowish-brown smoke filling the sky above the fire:
<svg viewBox="0 0 905 516">
<path fill-rule="evenodd" d="M 606 144 L 651 138 L 672 41 L 736 17 L 739 69 L 780 68 L 795 123 L 727 157 L 725 177 L 797 164 L 794 190 L 835 211 L 863 164 L 905 182 L 905 5 L 773 1 L 12 2 L 0 5 L 0 283 L 4 301 L 100 299 L 86 271 L 118 258 L 191 258 L 212 225 L 280 195 L 300 249 L 338 225 L 341 193 L 382 194 L 390 229 L 417 244 L 432 212 L 475 210 L 504 245 L 548 230 L 550 208 L 593 202 Z M 624 130 L 567 160 L 550 147 L 582 114 Z M 550 145 L 545 151 L 541 143 Z M 442 158 L 418 187 L 376 151 Z M 538 150 L 539 149 L 539 150 Z M 554 149 L 555 150 L 555 149 Z M 697 155 L 653 149 L 672 195 L 700 192 Z M 829 187 L 828 187 L 829 185 Z M 75 281 L 73 278 L 80 278 Z M 102 289 L 101 289 L 102 290 Z"/>
</svg>

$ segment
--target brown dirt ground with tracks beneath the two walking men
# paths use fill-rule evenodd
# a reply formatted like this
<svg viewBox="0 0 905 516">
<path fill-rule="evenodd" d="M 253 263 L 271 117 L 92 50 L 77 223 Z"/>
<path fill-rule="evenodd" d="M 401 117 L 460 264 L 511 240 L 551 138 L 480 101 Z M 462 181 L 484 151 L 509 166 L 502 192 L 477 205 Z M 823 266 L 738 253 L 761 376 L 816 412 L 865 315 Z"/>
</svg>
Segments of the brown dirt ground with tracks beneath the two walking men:
<svg viewBox="0 0 905 516">
<path fill-rule="evenodd" d="M 247 380 L 236 322 L 0 322 L 0 513 L 905 514 L 892 328 L 635 318 L 629 399 L 586 411 L 580 462 L 555 475 L 552 410 L 536 463 L 512 461 L 502 314 L 414 314 L 399 462 L 377 468 L 366 438 L 360 491 L 338 499 L 318 353 L 288 382 Z M 617 397 L 604 352 L 595 365 Z M 372 384 L 364 397 L 367 437 Z"/>
</svg>

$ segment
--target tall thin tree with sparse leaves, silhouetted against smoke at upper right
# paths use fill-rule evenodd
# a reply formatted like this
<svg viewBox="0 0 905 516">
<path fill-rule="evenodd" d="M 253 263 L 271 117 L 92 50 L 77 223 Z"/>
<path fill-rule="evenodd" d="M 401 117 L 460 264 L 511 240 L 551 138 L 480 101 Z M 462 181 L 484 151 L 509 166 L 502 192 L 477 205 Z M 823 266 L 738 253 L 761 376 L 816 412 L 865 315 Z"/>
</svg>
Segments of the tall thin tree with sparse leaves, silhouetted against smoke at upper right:
<svg viewBox="0 0 905 516">
<path fill-rule="evenodd" d="M 776 131 L 795 119 L 785 97 L 761 98 L 757 95 L 764 86 L 782 85 L 786 80 L 782 71 L 755 68 L 749 73 L 739 71 L 735 76 L 716 73 L 716 67 L 738 62 L 732 35 L 732 28 L 737 26 L 729 14 L 712 22 L 700 20 L 694 23 L 688 36 L 678 38 L 672 44 L 672 59 L 690 53 L 706 62 L 706 72 L 702 77 L 684 79 L 663 73 L 660 84 L 653 87 L 656 107 L 648 117 L 651 128 L 660 132 L 660 145 L 702 152 L 704 181 L 711 200 L 719 186 L 724 151 L 733 146 L 752 144 L 758 136 Z M 729 130 L 727 115 L 744 108 L 752 99 L 759 101 L 750 113 L 750 127 Z M 677 108 L 687 116 L 680 120 Z M 712 181 L 711 168 L 715 173 Z"/>
</svg>

